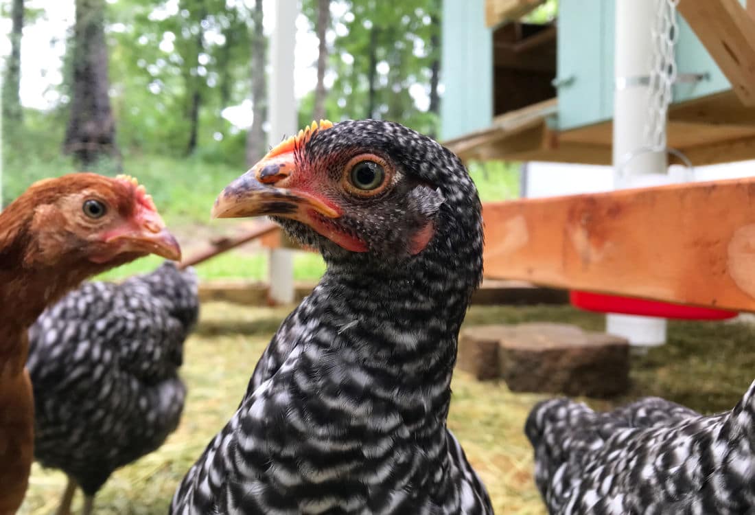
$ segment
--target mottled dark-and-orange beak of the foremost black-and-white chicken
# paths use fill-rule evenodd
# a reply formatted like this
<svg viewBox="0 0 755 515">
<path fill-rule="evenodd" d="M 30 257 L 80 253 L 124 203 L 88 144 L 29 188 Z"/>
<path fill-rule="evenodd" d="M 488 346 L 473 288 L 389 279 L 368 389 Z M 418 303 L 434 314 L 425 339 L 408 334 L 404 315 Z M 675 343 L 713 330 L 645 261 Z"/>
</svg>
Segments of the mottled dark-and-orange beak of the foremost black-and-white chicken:
<svg viewBox="0 0 755 515">
<path fill-rule="evenodd" d="M 341 213 L 312 193 L 292 185 L 297 167 L 293 153 L 262 159 L 230 183 L 215 200 L 213 218 L 280 216 L 306 222 L 310 211 L 327 218 Z"/>
</svg>

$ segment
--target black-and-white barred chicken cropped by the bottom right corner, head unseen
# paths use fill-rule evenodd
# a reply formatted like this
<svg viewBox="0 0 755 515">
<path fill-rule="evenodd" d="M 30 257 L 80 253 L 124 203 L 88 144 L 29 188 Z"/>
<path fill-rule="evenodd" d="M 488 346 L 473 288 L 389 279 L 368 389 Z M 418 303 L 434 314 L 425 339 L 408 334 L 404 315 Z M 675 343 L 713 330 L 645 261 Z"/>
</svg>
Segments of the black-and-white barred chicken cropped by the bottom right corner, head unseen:
<svg viewBox="0 0 755 515">
<path fill-rule="evenodd" d="M 708 417 L 657 397 L 607 413 L 551 399 L 525 431 L 550 513 L 755 511 L 755 383 Z"/>
</svg>

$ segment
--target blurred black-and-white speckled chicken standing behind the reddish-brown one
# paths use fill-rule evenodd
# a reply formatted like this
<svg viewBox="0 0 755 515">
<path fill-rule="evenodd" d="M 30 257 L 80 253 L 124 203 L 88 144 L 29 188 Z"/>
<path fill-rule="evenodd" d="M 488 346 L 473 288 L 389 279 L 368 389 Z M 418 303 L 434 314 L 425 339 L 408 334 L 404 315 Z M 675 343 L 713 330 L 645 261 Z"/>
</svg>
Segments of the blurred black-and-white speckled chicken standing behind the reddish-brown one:
<svg viewBox="0 0 755 515">
<path fill-rule="evenodd" d="M 29 330 L 35 458 L 78 485 L 90 513 L 116 468 L 153 452 L 178 425 L 183 342 L 199 313 L 196 273 L 166 261 L 121 284 L 88 282 Z"/>
</svg>

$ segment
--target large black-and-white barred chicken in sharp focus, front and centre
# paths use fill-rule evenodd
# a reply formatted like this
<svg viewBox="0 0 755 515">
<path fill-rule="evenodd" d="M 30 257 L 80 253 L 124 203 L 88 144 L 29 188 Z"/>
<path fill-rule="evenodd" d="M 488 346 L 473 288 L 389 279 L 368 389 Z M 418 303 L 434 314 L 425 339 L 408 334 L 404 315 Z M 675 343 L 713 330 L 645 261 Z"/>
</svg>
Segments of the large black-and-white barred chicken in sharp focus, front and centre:
<svg viewBox="0 0 755 515">
<path fill-rule="evenodd" d="M 327 263 L 172 513 L 492 513 L 446 428 L 482 219 L 459 159 L 373 120 L 313 123 L 218 197 Z"/>
</svg>

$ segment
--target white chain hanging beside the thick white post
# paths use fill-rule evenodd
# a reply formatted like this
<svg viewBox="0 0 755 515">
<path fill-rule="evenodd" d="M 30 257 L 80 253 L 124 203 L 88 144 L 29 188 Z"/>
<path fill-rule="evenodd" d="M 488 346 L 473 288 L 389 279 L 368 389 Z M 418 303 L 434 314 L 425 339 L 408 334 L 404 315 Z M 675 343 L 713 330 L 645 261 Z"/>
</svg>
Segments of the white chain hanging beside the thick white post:
<svg viewBox="0 0 755 515">
<path fill-rule="evenodd" d="M 666 152 L 666 122 L 676 81 L 674 45 L 679 39 L 676 6 L 679 0 L 656 0 L 655 26 L 652 29 L 652 67 L 649 76 L 649 113 L 645 125 L 645 140 L 652 152 Z"/>
</svg>

